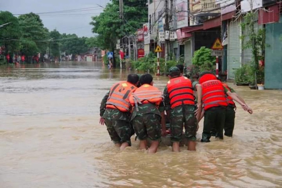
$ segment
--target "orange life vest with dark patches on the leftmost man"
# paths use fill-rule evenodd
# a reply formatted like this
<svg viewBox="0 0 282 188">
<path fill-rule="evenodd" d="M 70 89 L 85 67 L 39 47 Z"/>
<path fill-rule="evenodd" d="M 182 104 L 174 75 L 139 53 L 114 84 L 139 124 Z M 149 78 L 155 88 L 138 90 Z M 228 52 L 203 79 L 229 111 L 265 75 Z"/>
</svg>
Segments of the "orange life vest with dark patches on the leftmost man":
<svg viewBox="0 0 282 188">
<path fill-rule="evenodd" d="M 129 112 L 129 97 L 136 89 L 136 86 L 127 81 L 121 81 L 113 85 L 107 99 L 106 108 L 118 109 L 121 112 Z"/>
</svg>

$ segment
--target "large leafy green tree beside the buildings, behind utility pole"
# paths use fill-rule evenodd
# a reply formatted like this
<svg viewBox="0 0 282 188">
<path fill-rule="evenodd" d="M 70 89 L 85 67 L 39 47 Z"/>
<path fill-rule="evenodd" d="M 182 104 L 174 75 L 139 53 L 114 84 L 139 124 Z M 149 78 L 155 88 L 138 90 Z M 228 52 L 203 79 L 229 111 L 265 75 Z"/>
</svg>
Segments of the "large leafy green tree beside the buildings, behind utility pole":
<svg viewBox="0 0 282 188">
<path fill-rule="evenodd" d="M 124 0 L 124 14 L 119 15 L 119 1 L 112 0 L 99 16 L 92 17 L 92 32 L 97 33 L 96 43 L 103 50 L 114 51 L 117 39 L 130 35 L 148 21 L 147 1 Z M 114 57 L 113 57 L 114 60 Z M 115 67 L 115 62 L 113 62 Z"/>
</svg>

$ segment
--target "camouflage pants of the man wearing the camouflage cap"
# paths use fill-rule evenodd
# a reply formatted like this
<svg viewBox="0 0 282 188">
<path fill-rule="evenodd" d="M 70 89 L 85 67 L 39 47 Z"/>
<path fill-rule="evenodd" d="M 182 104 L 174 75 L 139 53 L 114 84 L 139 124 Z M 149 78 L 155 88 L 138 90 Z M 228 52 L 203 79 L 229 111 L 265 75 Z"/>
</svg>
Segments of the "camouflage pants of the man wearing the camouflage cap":
<svg viewBox="0 0 282 188">
<path fill-rule="evenodd" d="M 194 114 L 195 108 L 192 106 L 179 115 L 170 115 L 170 140 L 171 142 L 180 142 L 183 133 L 183 125 L 185 128 L 185 136 L 190 141 L 196 141 L 197 120 Z M 173 109 L 171 110 L 173 114 Z"/>
</svg>

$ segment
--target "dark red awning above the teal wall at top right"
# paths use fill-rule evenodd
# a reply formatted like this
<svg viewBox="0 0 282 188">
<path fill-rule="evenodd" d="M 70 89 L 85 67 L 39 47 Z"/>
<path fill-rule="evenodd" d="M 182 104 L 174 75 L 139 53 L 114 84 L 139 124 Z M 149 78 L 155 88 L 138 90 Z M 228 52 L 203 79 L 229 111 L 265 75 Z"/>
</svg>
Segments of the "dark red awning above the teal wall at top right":
<svg viewBox="0 0 282 188">
<path fill-rule="evenodd" d="M 258 20 L 259 25 L 279 22 L 279 5 L 278 4 L 269 6 L 265 9 L 266 11 L 264 11 L 263 9 L 259 10 L 259 20 Z"/>
</svg>

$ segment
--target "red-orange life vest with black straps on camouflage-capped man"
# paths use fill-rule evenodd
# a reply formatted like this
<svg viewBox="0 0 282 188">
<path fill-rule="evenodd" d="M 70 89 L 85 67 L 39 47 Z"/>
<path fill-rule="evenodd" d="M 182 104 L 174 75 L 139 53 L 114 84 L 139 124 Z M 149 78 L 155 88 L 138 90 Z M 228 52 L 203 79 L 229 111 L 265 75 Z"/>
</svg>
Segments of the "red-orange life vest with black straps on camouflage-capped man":
<svg viewBox="0 0 282 188">
<path fill-rule="evenodd" d="M 182 104 L 195 105 L 195 97 L 191 81 L 180 76 L 167 82 L 167 91 L 170 97 L 170 108 L 175 108 Z"/>
</svg>

